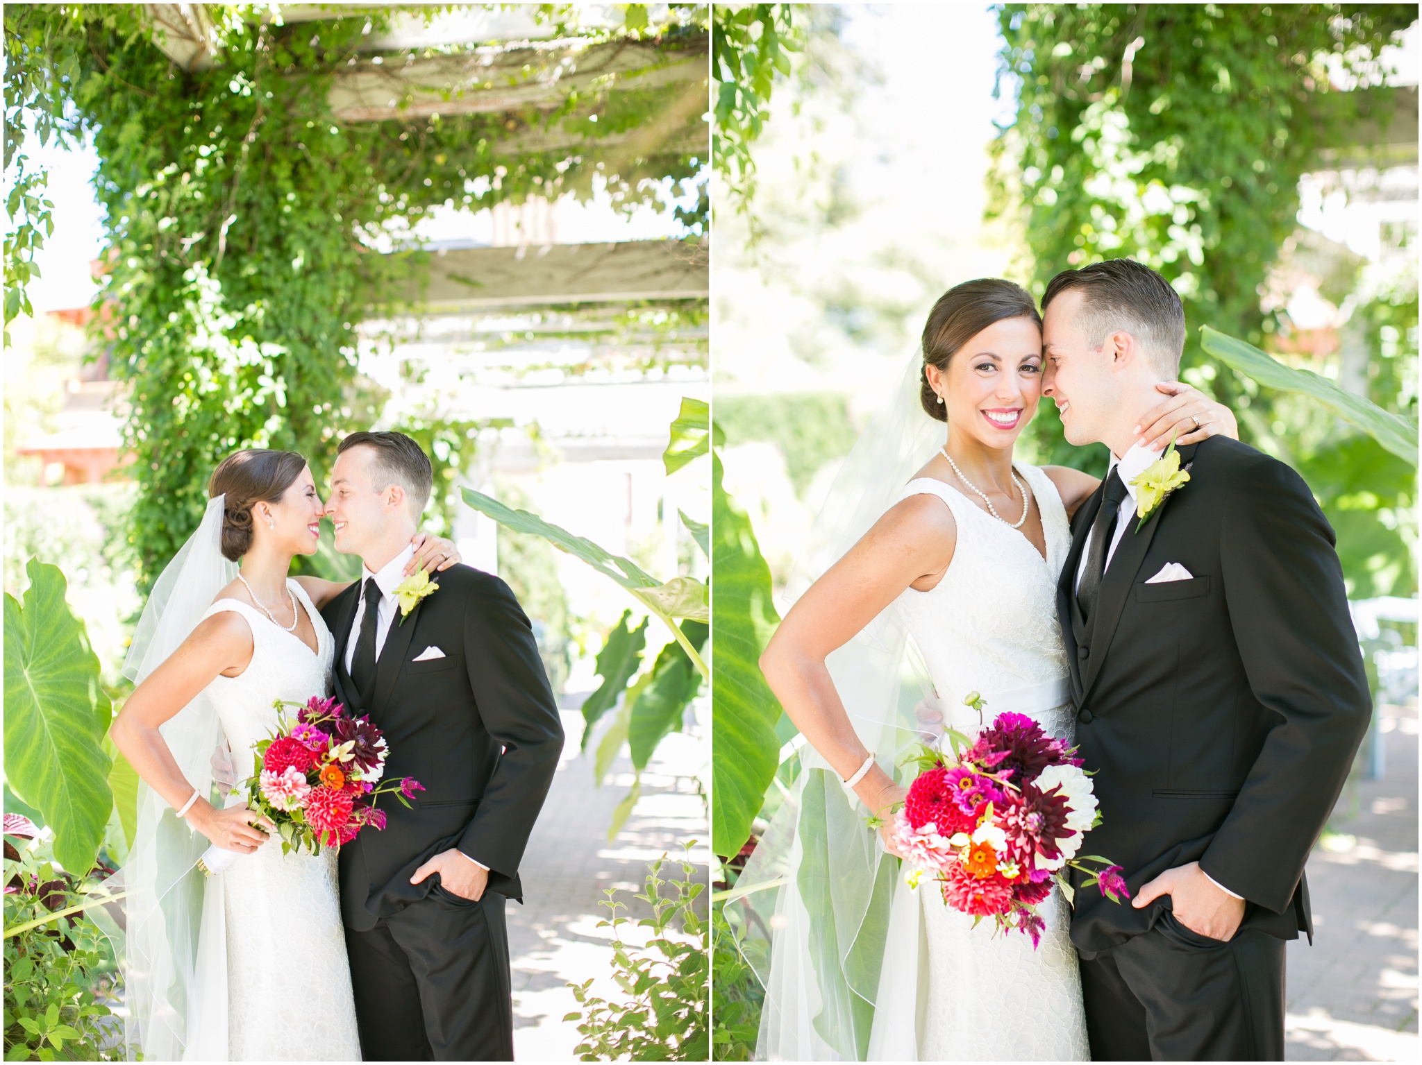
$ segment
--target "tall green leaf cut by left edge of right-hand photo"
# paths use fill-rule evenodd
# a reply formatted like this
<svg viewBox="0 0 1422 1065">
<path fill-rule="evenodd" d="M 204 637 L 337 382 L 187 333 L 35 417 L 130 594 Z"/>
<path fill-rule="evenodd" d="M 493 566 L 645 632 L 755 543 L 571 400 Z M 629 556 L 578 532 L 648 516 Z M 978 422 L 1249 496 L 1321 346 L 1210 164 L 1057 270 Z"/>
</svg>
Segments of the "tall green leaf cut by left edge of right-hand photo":
<svg viewBox="0 0 1422 1065">
<path fill-rule="evenodd" d="M 781 706 L 761 676 L 759 657 L 779 615 L 771 599 L 771 568 L 751 520 L 721 484 L 711 456 L 711 572 L 715 598 L 715 677 L 711 682 L 711 846 L 734 855 L 751 835 L 765 790 L 779 765 L 775 723 Z"/>
</svg>

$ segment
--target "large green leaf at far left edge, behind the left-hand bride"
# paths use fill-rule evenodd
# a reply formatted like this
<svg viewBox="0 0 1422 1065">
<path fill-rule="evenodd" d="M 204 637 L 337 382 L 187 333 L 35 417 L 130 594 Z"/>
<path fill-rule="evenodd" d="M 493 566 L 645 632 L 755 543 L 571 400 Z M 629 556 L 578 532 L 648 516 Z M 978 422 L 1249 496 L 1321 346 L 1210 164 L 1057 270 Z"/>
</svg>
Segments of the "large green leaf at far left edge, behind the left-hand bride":
<svg viewBox="0 0 1422 1065">
<path fill-rule="evenodd" d="M 64 574 L 30 559 L 21 606 L 4 598 L 4 774 L 54 829 L 54 856 L 85 873 L 114 808 L 101 747 L 111 707 Z"/>
</svg>

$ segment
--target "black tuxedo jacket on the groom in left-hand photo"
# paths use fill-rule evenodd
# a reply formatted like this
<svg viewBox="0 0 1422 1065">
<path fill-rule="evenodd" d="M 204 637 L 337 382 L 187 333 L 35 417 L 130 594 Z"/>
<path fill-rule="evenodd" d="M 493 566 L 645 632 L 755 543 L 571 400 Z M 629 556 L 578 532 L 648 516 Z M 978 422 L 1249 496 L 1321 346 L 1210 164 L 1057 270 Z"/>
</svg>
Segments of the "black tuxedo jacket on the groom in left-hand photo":
<svg viewBox="0 0 1422 1065">
<path fill-rule="evenodd" d="M 522 902 L 519 861 L 563 750 L 533 629 L 509 586 L 466 565 L 434 579 L 439 589 L 391 622 L 370 706 L 346 670 L 361 585 L 321 611 L 336 636 L 336 697 L 384 730 L 385 778 L 425 787 L 414 809 L 381 795 L 385 829 L 341 848 L 341 914 L 363 932 L 428 895 L 438 876 L 410 878 L 449 848 L 489 868 L 489 890 Z M 444 657 L 412 660 L 429 646 Z"/>
</svg>

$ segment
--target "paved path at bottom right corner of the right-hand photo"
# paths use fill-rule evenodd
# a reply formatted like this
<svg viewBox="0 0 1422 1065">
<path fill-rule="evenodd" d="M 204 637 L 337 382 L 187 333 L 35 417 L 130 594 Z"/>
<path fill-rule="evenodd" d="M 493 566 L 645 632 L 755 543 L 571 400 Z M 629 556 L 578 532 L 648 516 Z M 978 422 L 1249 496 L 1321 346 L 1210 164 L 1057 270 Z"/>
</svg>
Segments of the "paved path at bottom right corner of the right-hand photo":
<svg viewBox="0 0 1422 1065">
<path fill-rule="evenodd" d="M 1418 1061 L 1418 711 L 1385 707 L 1386 775 L 1344 791 L 1288 944 L 1288 1061 Z M 1349 839 L 1351 836 L 1351 839 Z"/>
</svg>

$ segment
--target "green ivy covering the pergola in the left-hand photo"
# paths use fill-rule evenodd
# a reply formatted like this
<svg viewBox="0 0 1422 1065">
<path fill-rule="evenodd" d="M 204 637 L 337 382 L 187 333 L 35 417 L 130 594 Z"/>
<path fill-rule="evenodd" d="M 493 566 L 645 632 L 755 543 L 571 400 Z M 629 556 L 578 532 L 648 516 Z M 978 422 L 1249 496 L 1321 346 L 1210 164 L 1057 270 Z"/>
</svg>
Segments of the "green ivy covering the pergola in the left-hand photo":
<svg viewBox="0 0 1422 1065">
<path fill-rule="evenodd" d="M 38 129 L 91 135 L 100 158 L 95 189 L 109 239 L 100 320 L 111 372 L 127 386 L 139 484 L 132 535 L 145 579 L 196 525 L 206 479 L 226 453 L 297 450 L 320 483 L 336 440 L 371 423 L 356 328 L 422 264 L 417 250 L 378 250 L 392 233 L 441 204 L 587 199 L 599 178 L 624 209 L 664 206 L 665 179 L 691 187 L 707 155 L 674 146 L 702 128 L 700 109 L 668 111 L 684 85 L 619 91 L 611 77 L 570 89 L 552 111 L 343 122 L 327 108 L 328 92 L 370 57 L 363 43 L 397 9 L 284 26 L 264 9 L 205 7 L 216 62 L 196 71 L 154 44 L 139 4 L 4 11 L 7 168 L 26 112 Z M 660 26 L 641 6 L 624 13 L 626 24 L 600 38 L 653 40 L 667 62 L 705 53 L 705 9 L 678 6 Z M 567 10 L 543 6 L 542 14 L 559 20 Z M 653 145 L 593 139 L 654 119 L 667 128 Z M 518 148 L 519 133 L 549 131 L 586 141 Z M 43 222 L 41 206 L 28 209 L 31 222 Z M 704 223 L 694 212 L 685 220 Z M 11 277 L 26 247 L 6 246 Z M 431 430 L 431 443 L 469 440 L 468 429 Z"/>
</svg>

